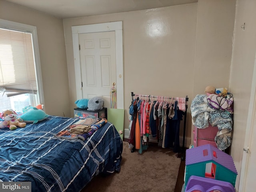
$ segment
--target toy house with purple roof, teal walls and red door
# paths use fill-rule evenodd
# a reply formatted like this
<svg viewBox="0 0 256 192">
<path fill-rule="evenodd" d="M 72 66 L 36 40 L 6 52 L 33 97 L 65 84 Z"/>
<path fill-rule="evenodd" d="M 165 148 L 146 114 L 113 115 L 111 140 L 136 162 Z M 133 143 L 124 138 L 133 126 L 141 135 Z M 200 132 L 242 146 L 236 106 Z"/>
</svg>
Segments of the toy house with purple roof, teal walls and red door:
<svg viewBox="0 0 256 192">
<path fill-rule="evenodd" d="M 230 155 L 207 144 L 186 150 L 185 188 L 190 176 L 225 181 L 234 187 L 237 171 Z"/>
</svg>

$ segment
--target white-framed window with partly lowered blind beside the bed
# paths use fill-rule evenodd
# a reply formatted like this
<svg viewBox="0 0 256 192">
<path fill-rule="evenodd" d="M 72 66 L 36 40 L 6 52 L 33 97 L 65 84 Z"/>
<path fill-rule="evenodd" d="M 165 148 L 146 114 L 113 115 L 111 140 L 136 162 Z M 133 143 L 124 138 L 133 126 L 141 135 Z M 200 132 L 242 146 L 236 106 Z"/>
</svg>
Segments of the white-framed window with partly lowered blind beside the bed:
<svg viewBox="0 0 256 192">
<path fill-rule="evenodd" d="M 44 103 L 36 27 L 0 19 L 0 112 Z"/>
</svg>

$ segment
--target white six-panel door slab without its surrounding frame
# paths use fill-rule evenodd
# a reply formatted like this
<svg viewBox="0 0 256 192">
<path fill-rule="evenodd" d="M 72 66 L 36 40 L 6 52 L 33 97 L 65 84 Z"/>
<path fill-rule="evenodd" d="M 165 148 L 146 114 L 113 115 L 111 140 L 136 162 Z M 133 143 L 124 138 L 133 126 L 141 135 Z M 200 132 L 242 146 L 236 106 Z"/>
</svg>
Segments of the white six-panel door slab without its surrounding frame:
<svg viewBox="0 0 256 192">
<path fill-rule="evenodd" d="M 82 97 L 102 96 L 110 108 L 110 88 L 116 84 L 115 32 L 79 34 Z"/>
</svg>

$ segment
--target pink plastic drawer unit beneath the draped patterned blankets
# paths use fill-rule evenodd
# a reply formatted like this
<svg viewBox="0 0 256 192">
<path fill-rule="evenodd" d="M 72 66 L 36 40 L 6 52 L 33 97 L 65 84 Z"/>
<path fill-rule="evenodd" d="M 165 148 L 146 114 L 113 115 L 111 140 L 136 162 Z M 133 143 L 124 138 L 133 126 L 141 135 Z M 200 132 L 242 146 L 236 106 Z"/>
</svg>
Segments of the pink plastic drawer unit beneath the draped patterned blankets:
<svg viewBox="0 0 256 192">
<path fill-rule="evenodd" d="M 214 138 L 218 132 L 218 127 L 213 127 L 209 124 L 209 127 L 205 129 L 194 127 L 194 147 L 211 144 L 214 147 L 217 147 Z"/>
</svg>

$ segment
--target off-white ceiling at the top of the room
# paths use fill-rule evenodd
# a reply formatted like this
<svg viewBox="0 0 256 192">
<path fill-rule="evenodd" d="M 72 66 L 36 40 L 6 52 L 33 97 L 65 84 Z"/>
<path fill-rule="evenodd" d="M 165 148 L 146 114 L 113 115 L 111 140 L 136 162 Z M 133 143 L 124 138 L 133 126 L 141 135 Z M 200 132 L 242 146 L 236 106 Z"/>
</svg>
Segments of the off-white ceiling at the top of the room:
<svg viewBox="0 0 256 192">
<path fill-rule="evenodd" d="M 127 11 L 146 10 L 198 0 L 6 0 L 27 8 L 55 16 L 73 18 Z"/>
</svg>

